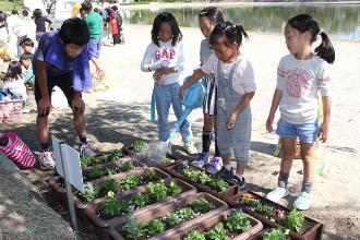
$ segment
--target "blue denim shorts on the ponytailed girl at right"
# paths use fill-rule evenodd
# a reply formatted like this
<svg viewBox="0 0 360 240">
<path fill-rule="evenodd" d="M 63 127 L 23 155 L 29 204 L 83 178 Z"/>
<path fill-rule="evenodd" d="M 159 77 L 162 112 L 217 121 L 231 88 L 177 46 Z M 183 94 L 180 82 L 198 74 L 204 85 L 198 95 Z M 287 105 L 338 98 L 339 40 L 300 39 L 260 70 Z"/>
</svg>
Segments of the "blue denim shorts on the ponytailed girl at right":
<svg viewBox="0 0 360 240">
<path fill-rule="evenodd" d="M 292 124 L 283 118 L 277 122 L 276 134 L 280 137 L 295 139 L 299 136 L 301 143 L 314 143 L 317 139 L 319 121 L 304 124 Z"/>
</svg>

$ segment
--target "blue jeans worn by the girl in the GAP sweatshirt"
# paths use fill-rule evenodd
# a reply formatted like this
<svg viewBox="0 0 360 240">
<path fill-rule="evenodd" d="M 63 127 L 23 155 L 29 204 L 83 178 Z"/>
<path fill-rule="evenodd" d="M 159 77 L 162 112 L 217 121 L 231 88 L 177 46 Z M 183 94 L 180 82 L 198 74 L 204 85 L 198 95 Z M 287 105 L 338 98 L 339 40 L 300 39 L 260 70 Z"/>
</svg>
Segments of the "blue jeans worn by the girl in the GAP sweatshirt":
<svg viewBox="0 0 360 240">
<path fill-rule="evenodd" d="M 172 83 L 167 85 L 154 85 L 156 110 L 157 110 L 157 127 L 159 141 L 167 141 L 170 136 L 170 124 L 168 121 L 170 105 L 177 119 L 179 120 L 183 113 L 183 107 L 179 98 L 180 83 Z M 191 124 L 185 120 L 180 127 L 180 134 L 182 141 L 187 142 L 192 139 Z"/>
</svg>

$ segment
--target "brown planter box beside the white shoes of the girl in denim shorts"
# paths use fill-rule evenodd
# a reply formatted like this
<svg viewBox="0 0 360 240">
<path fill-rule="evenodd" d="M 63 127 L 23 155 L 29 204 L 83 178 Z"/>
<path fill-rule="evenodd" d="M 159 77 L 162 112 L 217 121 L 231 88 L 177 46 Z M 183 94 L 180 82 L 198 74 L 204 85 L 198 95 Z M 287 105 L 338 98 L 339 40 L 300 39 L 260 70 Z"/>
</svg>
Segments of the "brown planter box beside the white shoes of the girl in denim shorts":
<svg viewBox="0 0 360 240">
<path fill-rule="evenodd" d="M 244 213 L 247 213 L 247 214 L 255 217 L 256 219 L 261 220 L 267 227 L 288 229 L 288 228 L 279 225 L 278 223 L 268 219 L 264 215 L 261 215 L 261 214 L 250 209 L 249 207 L 247 207 L 244 205 L 241 205 L 239 203 L 239 200 L 241 199 L 242 194 L 245 194 L 245 193 L 252 194 L 255 199 L 259 199 L 261 203 L 266 204 L 268 206 L 274 206 L 277 209 L 281 209 L 286 214 L 291 212 L 291 209 L 289 209 L 288 207 L 281 206 L 277 203 L 274 203 L 274 202 L 267 200 L 266 197 L 261 196 L 261 195 L 259 195 L 254 192 L 251 192 L 251 191 L 245 191 L 245 192 L 242 192 L 242 193 L 239 193 L 239 194 L 232 196 L 228 201 L 229 205 L 232 206 L 232 207 L 242 208 Z M 305 226 L 304 227 L 305 229 L 303 229 L 302 232 L 296 232 L 296 231 L 290 230 L 289 235 L 290 235 L 291 239 L 301 239 L 301 240 L 313 240 L 313 239 L 317 240 L 317 239 L 321 239 L 321 236 L 322 236 L 322 232 L 323 232 L 323 227 L 324 227 L 321 223 L 305 216 L 304 226 Z"/>
</svg>

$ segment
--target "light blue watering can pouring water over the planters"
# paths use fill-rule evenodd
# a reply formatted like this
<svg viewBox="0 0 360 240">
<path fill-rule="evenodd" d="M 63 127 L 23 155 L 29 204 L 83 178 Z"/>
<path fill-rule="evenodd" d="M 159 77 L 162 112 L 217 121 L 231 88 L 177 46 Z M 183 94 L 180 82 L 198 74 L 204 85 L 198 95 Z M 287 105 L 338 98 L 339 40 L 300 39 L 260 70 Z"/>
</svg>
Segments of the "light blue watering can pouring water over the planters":
<svg viewBox="0 0 360 240">
<path fill-rule="evenodd" d="M 187 82 L 189 79 L 190 76 L 187 76 L 184 82 Z M 170 151 L 169 148 L 171 146 L 169 146 L 169 143 L 171 139 L 180 130 L 181 124 L 185 121 L 185 119 L 189 117 L 191 111 L 195 108 L 200 108 L 203 106 L 205 94 L 206 94 L 206 89 L 201 82 L 194 83 L 187 89 L 181 100 L 181 104 L 185 107 L 185 109 L 183 110 L 181 118 L 171 129 L 169 139 L 166 142 L 161 142 L 161 146 L 160 146 L 161 149 L 166 149 L 167 152 Z"/>
</svg>

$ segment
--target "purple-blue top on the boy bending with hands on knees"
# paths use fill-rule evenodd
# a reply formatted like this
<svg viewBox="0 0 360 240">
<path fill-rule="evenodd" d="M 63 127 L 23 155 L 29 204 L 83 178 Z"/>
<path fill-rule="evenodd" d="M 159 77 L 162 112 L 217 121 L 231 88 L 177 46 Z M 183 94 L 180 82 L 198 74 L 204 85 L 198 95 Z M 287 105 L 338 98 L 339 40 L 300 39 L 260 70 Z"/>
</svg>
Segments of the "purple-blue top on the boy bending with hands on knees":
<svg viewBox="0 0 360 240">
<path fill-rule="evenodd" d="M 59 38 L 59 31 L 44 34 L 34 56 L 34 74 L 37 75 L 36 60 L 45 61 L 49 79 L 73 72 L 73 88 L 83 92 L 93 87 L 87 46 L 74 59 L 69 58 Z"/>
</svg>

